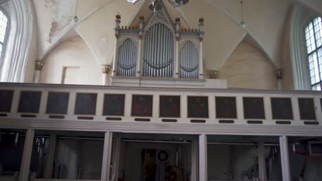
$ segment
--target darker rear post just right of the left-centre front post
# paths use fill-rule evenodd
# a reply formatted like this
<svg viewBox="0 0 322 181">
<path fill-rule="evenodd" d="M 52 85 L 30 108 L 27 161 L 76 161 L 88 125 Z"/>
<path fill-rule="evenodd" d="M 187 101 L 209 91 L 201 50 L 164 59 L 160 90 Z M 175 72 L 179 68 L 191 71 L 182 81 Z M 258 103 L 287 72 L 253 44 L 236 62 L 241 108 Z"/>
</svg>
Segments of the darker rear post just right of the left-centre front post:
<svg viewBox="0 0 322 181">
<path fill-rule="evenodd" d="M 113 149 L 114 151 L 112 156 L 112 173 L 111 173 L 111 180 L 118 181 L 118 167 L 120 165 L 120 146 L 121 146 L 121 138 L 117 137 L 114 139 Z"/>
</svg>

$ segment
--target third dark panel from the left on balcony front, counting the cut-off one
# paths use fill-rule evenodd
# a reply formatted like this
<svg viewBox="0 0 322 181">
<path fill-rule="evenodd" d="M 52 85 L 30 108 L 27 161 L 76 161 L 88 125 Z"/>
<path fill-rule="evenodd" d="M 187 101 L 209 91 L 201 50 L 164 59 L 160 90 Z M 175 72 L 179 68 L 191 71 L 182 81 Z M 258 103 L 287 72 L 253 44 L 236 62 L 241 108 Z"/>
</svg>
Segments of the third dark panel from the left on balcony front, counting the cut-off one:
<svg viewBox="0 0 322 181">
<path fill-rule="evenodd" d="M 46 114 L 67 114 L 69 93 L 49 92 Z"/>
</svg>

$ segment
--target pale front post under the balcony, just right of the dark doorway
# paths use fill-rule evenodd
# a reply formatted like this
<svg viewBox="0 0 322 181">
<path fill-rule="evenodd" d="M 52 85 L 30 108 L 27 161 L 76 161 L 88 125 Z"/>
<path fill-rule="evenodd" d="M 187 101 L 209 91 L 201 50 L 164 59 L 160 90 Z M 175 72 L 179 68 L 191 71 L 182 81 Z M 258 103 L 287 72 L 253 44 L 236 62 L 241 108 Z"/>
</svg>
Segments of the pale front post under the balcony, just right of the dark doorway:
<svg viewBox="0 0 322 181">
<path fill-rule="evenodd" d="M 199 180 L 208 180 L 208 166 L 207 166 L 207 135 L 199 135 Z"/>
</svg>

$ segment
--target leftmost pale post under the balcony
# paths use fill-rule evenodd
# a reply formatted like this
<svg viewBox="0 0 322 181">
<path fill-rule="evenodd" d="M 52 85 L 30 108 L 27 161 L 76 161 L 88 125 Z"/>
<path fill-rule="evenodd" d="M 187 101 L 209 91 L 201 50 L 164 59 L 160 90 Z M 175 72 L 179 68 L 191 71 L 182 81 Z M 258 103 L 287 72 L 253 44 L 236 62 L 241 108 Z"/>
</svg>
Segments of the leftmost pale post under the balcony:
<svg viewBox="0 0 322 181">
<path fill-rule="evenodd" d="M 19 181 L 29 180 L 30 160 L 32 156 L 32 145 L 34 144 L 34 130 L 28 129 L 25 134 L 25 145 L 23 147 L 23 157 L 21 160 Z"/>
</svg>

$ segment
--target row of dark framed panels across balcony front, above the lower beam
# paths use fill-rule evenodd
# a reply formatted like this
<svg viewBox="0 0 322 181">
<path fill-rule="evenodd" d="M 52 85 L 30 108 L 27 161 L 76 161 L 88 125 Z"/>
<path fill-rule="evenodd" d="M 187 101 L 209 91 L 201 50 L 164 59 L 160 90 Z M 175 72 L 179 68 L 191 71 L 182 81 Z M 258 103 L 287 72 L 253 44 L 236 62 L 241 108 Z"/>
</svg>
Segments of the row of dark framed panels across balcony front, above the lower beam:
<svg viewBox="0 0 322 181">
<path fill-rule="evenodd" d="M 1 99 L 0 117 L 239 125 L 322 120 L 322 94 L 314 91 L 13 85 L 0 85 L 2 97 L 14 91 Z"/>
</svg>

